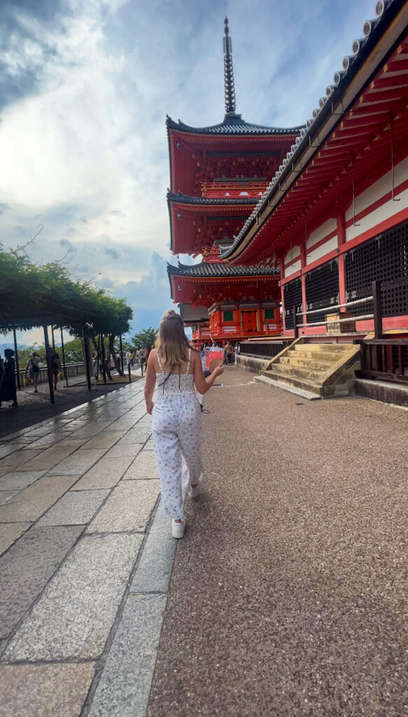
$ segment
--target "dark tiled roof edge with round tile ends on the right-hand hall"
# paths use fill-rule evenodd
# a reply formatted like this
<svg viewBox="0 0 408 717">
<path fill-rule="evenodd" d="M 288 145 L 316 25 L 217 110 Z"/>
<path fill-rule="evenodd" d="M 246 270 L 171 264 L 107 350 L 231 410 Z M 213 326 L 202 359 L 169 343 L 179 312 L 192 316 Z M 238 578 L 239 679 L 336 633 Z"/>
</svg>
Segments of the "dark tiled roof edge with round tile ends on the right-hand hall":
<svg viewBox="0 0 408 717">
<path fill-rule="evenodd" d="M 234 252 L 244 244 L 248 232 L 250 232 L 250 229 L 252 229 L 260 218 L 265 206 L 271 204 L 279 194 L 279 201 L 283 199 L 283 196 L 285 196 L 290 186 L 288 181 L 290 176 L 298 176 L 299 174 L 294 171 L 294 166 L 298 158 L 300 158 L 305 151 L 305 147 L 313 147 L 317 152 L 321 146 L 323 146 L 325 138 L 321 138 L 316 144 L 313 144 L 314 138 L 316 138 L 316 136 L 319 137 L 319 130 L 321 130 L 328 118 L 330 118 L 330 115 L 333 114 L 333 108 L 343 107 L 343 98 L 348 92 L 352 80 L 354 80 L 364 66 L 366 58 L 369 57 L 369 53 L 373 47 L 375 47 L 376 43 L 379 42 L 379 39 L 385 36 L 397 12 L 404 5 L 404 1 L 406 0 L 381 0 L 376 3 L 376 17 L 364 23 L 364 37 L 354 40 L 352 44 L 353 54 L 346 55 L 346 57 L 343 58 L 343 67 L 334 73 L 333 85 L 326 87 L 324 96 L 320 98 L 318 102 L 318 108 L 313 110 L 313 116 L 308 119 L 303 128 L 299 128 L 300 134 L 298 138 L 296 138 L 295 143 L 290 148 L 290 151 L 288 151 L 283 163 L 267 187 L 265 194 L 260 197 L 250 217 L 247 218 L 244 226 L 239 234 L 237 234 L 237 237 L 234 237 L 234 242 L 221 253 L 222 259 L 227 260 L 229 257 L 232 257 Z M 349 102 L 351 102 L 351 100 L 349 100 Z M 347 111 L 348 108 L 343 108 L 342 113 L 338 113 L 338 121 L 340 121 L 341 117 L 343 117 Z M 281 190 L 281 187 L 285 187 L 285 189 Z"/>
</svg>

